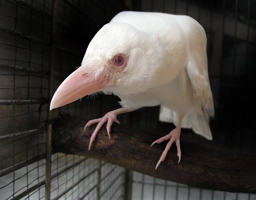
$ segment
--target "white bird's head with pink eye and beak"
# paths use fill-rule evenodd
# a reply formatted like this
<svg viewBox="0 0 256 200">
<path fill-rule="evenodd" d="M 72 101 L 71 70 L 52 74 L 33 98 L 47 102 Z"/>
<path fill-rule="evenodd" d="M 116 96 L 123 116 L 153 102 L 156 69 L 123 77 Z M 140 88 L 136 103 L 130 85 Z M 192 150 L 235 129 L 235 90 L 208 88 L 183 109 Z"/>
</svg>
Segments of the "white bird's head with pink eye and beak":
<svg viewBox="0 0 256 200">
<path fill-rule="evenodd" d="M 162 51 L 154 35 L 126 23 L 104 25 L 88 45 L 81 66 L 54 93 L 50 110 L 104 90 L 125 95 L 147 90 Z"/>
</svg>

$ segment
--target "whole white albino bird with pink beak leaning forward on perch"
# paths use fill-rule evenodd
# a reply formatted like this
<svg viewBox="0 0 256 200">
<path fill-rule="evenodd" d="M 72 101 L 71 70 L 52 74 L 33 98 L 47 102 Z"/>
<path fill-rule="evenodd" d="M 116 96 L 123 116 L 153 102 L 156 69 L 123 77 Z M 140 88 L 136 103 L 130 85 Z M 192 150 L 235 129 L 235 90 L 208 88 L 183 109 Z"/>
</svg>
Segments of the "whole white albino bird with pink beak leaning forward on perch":
<svg viewBox="0 0 256 200">
<path fill-rule="evenodd" d="M 160 105 L 160 121 L 173 122 L 176 128 L 152 143 L 170 139 L 156 168 L 173 142 L 180 161 L 181 128 L 191 128 L 212 140 L 209 121 L 214 117 L 214 105 L 206 42 L 205 30 L 189 16 L 120 12 L 93 37 L 81 66 L 56 90 L 50 110 L 100 91 L 117 95 L 122 108 L 90 120 L 84 127 L 98 123 L 90 150 L 105 122 L 110 137 L 112 123 L 119 123 L 118 114 Z"/>
</svg>

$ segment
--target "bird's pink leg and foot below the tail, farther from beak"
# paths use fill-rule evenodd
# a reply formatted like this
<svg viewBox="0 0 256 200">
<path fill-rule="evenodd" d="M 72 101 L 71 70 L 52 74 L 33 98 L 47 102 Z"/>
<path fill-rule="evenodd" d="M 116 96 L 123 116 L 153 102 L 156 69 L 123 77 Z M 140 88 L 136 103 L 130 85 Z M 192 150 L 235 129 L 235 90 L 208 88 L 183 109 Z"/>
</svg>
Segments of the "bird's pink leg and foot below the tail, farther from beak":
<svg viewBox="0 0 256 200">
<path fill-rule="evenodd" d="M 170 150 L 171 146 L 172 146 L 172 143 L 175 142 L 176 143 L 176 146 L 177 146 L 177 156 L 179 157 L 179 161 L 180 161 L 180 158 L 181 158 L 181 150 L 180 150 L 180 144 L 179 144 L 179 137 L 180 137 L 180 132 L 181 132 L 181 122 L 182 122 L 182 119 L 183 119 L 183 116 L 179 117 L 179 121 L 178 121 L 178 125 L 175 129 L 173 129 L 168 135 L 164 136 L 164 137 L 161 137 L 160 139 L 154 141 L 151 146 L 155 143 L 158 143 L 160 144 L 161 142 L 165 141 L 165 140 L 168 140 L 170 139 L 170 141 L 166 144 L 166 147 L 165 147 L 165 150 L 164 152 L 162 153 L 159 161 L 157 162 L 156 164 L 156 168 L 158 167 L 158 165 L 164 161 L 166 155 L 167 155 L 167 152 Z M 178 161 L 178 163 L 179 163 Z M 155 168 L 155 169 L 156 169 Z"/>
</svg>

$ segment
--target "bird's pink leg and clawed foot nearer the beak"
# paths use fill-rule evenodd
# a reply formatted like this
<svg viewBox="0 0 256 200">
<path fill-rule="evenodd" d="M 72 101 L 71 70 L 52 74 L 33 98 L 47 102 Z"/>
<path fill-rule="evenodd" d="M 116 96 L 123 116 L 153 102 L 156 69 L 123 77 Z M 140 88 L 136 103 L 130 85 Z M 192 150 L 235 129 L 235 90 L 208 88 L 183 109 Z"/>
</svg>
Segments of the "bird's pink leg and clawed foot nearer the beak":
<svg viewBox="0 0 256 200">
<path fill-rule="evenodd" d="M 116 110 L 112 110 L 110 112 L 108 112 L 107 114 L 105 114 L 102 118 L 98 118 L 95 120 L 90 120 L 89 122 L 87 122 L 87 124 L 84 126 L 84 131 L 86 129 L 86 127 L 98 123 L 98 125 L 96 126 L 95 130 L 92 133 L 92 136 L 90 138 L 90 143 L 89 143 L 89 151 L 92 145 L 92 142 L 95 140 L 96 135 L 98 134 L 100 128 L 102 127 L 103 124 L 105 124 L 105 122 L 107 123 L 107 132 L 108 132 L 108 137 L 110 138 L 110 127 L 113 124 L 113 122 L 116 122 L 117 124 L 120 124 L 120 122 L 116 119 L 116 116 L 125 112 L 130 112 L 130 110 L 128 110 L 127 108 L 118 108 Z"/>
</svg>

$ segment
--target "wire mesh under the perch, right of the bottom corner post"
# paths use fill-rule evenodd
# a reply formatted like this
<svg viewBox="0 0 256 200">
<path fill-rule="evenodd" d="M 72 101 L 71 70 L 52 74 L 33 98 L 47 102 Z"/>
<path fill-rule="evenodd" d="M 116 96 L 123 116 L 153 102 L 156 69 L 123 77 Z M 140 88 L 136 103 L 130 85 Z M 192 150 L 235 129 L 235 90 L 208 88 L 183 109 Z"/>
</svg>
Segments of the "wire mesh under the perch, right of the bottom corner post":
<svg viewBox="0 0 256 200">
<path fill-rule="evenodd" d="M 133 172 L 132 200 L 255 200 L 256 194 L 230 193 L 154 178 Z"/>
</svg>

